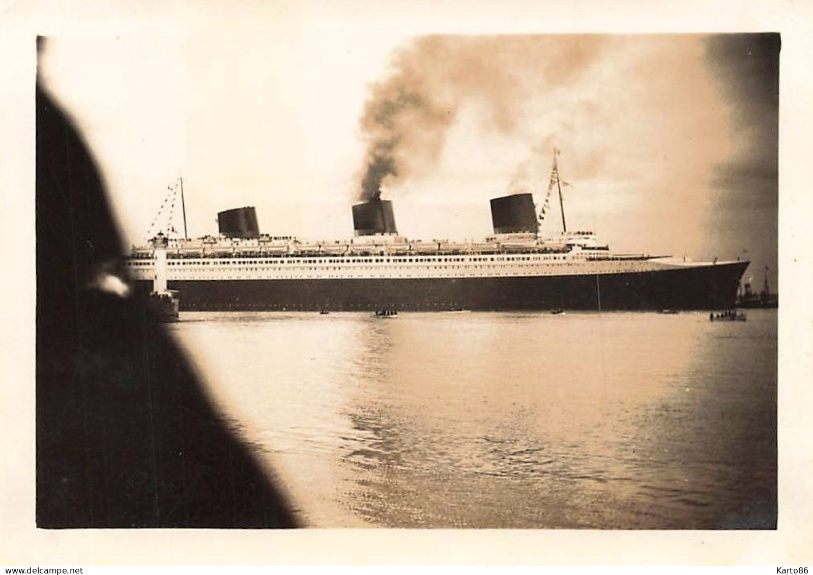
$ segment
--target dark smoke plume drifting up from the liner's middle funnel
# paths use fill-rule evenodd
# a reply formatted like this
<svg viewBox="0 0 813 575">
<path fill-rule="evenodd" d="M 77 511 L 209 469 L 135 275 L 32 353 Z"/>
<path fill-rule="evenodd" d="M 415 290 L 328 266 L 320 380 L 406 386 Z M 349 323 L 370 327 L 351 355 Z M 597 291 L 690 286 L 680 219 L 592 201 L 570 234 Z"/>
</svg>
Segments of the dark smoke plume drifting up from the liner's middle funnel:
<svg viewBox="0 0 813 575">
<path fill-rule="evenodd" d="M 534 93 L 566 85 L 598 56 L 602 37 L 428 36 L 393 57 L 361 119 L 367 141 L 361 199 L 431 169 L 463 108 L 477 106 L 484 132 L 511 134 Z"/>
</svg>

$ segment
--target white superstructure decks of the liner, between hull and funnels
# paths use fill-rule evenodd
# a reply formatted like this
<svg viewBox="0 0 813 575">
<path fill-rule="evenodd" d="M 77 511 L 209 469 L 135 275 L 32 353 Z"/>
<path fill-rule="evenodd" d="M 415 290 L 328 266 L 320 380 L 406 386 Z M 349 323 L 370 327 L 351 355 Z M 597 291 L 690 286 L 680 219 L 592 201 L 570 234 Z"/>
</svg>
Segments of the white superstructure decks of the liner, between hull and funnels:
<svg viewBox="0 0 813 575">
<path fill-rule="evenodd" d="M 133 279 L 155 278 L 152 245 L 133 249 L 126 266 Z M 487 278 L 604 275 L 709 266 L 671 257 L 612 253 L 592 232 L 554 239 L 505 234 L 481 241 L 409 241 L 367 236 L 342 242 L 292 237 L 254 240 L 208 237 L 169 240 L 167 280 Z"/>
</svg>

